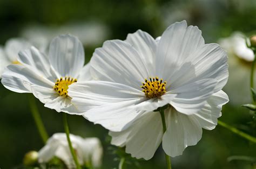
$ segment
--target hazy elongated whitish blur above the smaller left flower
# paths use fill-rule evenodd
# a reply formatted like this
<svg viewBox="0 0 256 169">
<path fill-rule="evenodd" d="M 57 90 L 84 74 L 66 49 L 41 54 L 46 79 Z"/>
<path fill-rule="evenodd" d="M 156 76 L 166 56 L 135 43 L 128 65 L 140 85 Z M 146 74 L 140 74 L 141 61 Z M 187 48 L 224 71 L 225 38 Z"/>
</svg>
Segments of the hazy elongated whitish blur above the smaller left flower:
<svg viewBox="0 0 256 169">
<path fill-rule="evenodd" d="M 69 23 L 58 27 L 46 27 L 43 25 L 30 25 L 21 32 L 21 36 L 44 43 L 50 42 L 53 37 L 70 33 L 79 37 L 84 45 L 98 45 L 109 35 L 107 26 L 99 22 Z"/>
</svg>

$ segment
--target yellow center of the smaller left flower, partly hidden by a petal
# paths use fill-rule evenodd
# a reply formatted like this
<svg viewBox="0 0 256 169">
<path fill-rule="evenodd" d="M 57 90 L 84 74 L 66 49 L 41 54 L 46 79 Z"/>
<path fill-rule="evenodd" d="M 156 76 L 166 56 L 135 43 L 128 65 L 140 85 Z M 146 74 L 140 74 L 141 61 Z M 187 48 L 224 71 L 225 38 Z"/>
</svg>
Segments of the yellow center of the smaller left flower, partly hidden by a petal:
<svg viewBox="0 0 256 169">
<path fill-rule="evenodd" d="M 56 80 L 55 86 L 53 89 L 59 94 L 59 96 L 68 96 L 69 85 L 76 83 L 77 79 L 71 77 L 61 77 Z"/>
</svg>

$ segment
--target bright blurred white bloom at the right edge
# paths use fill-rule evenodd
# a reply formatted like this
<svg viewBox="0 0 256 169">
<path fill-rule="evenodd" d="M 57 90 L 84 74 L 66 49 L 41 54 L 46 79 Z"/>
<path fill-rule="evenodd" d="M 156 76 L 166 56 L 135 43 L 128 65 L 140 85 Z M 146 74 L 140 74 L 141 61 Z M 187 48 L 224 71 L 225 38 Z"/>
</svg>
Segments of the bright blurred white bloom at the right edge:
<svg viewBox="0 0 256 169">
<path fill-rule="evenodd" d="M 230 37 L 220 39 L 219 44 L 228 53 L 240 59 L 244 59 L 247 62 L 252 62 L 254 53 L 250 48 L 247 48 L 245 38 L 246 36 L 242 33 L 234 32 Z"/>
</svg>

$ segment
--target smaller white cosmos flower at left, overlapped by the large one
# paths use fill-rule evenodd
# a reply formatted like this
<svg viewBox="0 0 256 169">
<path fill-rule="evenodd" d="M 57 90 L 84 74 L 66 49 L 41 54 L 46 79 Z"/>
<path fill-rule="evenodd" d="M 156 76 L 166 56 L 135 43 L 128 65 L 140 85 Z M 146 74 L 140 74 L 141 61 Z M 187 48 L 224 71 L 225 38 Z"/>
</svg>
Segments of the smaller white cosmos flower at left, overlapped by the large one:
<svg viewBox="0 0 256 169">
<path fill-rule="evenodd" d="M 2 84 L 19 93 L 33 93 L 45 107 L 70 114 L 79 111 L 70 102 L 68 87 L 90 80 L 89 64 L 84 66 L 84 49 L 77 37 L 60 35 L 49 47 L 49 56 L 31 47 L 19 53 L 20 65 L 9 65 Z"/>
</svg>

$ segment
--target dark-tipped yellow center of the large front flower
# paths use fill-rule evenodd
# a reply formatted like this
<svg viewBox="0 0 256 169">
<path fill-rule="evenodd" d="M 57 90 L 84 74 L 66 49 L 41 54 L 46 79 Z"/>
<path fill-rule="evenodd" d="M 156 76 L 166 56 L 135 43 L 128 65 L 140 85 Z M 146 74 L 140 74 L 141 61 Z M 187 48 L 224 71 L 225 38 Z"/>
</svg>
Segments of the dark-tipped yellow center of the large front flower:
<svg viewBox="0 0 256 169">
<path fill-rule="evenodd" d="M 163 79 L 160 79 L 156 76 L 156 78 L 149 78 L 150 80 L 145 79 L 145 82 L 142 83 L 143 85 L 140 86 L 143 89 L 146 97 L 148 98 L 155 98 L 162 96 L 166 90 L 166 82 L 163 82 Z"/>
</svg>

